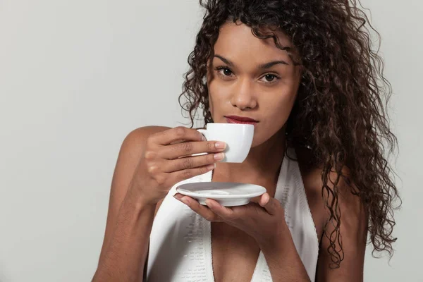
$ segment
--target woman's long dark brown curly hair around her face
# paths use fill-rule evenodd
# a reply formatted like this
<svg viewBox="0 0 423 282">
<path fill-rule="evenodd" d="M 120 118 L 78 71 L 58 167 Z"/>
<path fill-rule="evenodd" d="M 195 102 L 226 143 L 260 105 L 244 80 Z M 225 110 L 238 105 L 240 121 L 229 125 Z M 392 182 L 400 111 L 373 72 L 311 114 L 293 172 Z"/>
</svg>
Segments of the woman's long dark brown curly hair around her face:
<svg viewBox="0 0 423 282">
<path fill-rule="evenodd" d="M 379 49 L 372 49 L 366 26 L 369 20 L 357 1 L 200 0 L 200 5 L 206 13 L 194 51 L 188 57 L 190 70 L 185 73 L 179 97 L 180 105 L 189 113 L 191 127 L 198 109 L 202 109 L 205 124 L 213 122 L 207 61 L 214 55 L 221 25 L 240 21 L 251 27 L 255 37 L 272 38 L 279 49 L 302 65 L 298 97 L 286 134 L 288 146 L 309 149 L 310 163 L 322 168 L 321 195 L 330 212 L 324 235 L 330 242 L 327 251 L 331 267 L 339 267 L 344 257 L 338 206 L 341 179 L 350 184 L 350 192 L 363 204 L 373 255 L 375 251 L 387 251 L 392 257 L 392 243 L 396 240 L 392 235 L 393 211 L 399 207 L 396 200 L 400 200 L 387 159 L 388 153 L 398 147 L 385 109 L 392 90 L 383 74 Z M 263 27 L 284 32 L 298 51 L 299 60 L 289 47 L 278 43 L 275 29 L 269 32 Z M 369 27 L 380 39 L 370 23 Z M 348 168 L 348 175 L 344 168 Z M 335 180 L 331 173 L 336 173 Z M 329 223 L 334 226 L 330 233 Z"/>
</svg>

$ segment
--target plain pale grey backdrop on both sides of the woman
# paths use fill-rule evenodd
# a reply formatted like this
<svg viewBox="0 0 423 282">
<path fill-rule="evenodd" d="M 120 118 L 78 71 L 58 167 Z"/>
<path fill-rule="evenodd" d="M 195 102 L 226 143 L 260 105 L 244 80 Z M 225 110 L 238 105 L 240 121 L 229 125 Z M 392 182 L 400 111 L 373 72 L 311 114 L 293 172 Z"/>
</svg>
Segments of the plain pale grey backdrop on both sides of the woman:
<svg viewBox="0 0 423 282">
<path fill-rule="evenodd" d="M 368 247 L 365 281 L 423 281 L 423 2 L 362 3 L 393 85 L 403 197 L 396 253 Z M 178 95 L 202 13 L 197 0 L 0 0 L 1 282 L 90 281 L 123 138 L 188 122 Z"/>
</svg>

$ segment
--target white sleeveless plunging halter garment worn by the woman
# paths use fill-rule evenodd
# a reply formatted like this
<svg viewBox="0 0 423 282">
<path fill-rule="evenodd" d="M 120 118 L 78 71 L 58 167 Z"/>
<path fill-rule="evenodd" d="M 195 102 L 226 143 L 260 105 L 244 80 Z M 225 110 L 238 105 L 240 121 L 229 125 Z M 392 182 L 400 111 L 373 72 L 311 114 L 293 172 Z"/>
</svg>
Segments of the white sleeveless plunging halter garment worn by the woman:
<svg viewBox="0 0 423 282">
<path fill-rule="evenodd" d="M 290 149 L 289 155 L 295 157 Z M 212 180 L 212 171 L 182 183 Z M 179 202 L 173 186 L 161 204 L 150 235 L 147 281 L 213 282 L 211 223 Z M 316 273 L 319 244 L 309 210 L 298 162 L 284 157 L 275 198 L 285 209 L 298 255 L 311 281 Z M 272 281 L 269 266 L 260 251 L 252 282 Z"/>
</svg>

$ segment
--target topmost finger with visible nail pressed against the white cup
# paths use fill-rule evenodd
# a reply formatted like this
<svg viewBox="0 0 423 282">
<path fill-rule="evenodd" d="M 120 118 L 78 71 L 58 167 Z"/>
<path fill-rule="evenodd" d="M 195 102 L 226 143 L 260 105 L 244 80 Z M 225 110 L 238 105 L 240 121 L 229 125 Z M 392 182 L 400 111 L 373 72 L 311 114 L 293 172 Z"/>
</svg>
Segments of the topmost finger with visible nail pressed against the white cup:
<svg viewBox="0 0 423 282">
<path fill-rule="evenodd" d="M 181 142 L 161 147 L 159 156 L 163 159 L 177 159 L 192 154 L 221 152 L 226 149 L 226 143 L 220 141 Z"/>
</svg>

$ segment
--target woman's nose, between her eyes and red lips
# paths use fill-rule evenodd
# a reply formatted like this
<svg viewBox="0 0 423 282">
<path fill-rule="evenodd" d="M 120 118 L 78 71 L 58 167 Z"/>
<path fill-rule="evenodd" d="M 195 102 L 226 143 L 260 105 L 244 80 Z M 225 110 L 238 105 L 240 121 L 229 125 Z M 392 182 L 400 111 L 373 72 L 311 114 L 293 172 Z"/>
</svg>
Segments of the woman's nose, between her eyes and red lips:
<svg viewBox="0 0 423 282">
<path fill-rule="evenodd" d="M 254 87 L 248 79 L 240 79 L 233 87 L 231 104 L 238 109 L 254 109 L 257 106 L 257 99 L 254 94 Z"/>
</svg>

